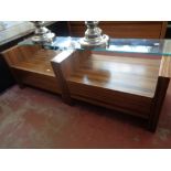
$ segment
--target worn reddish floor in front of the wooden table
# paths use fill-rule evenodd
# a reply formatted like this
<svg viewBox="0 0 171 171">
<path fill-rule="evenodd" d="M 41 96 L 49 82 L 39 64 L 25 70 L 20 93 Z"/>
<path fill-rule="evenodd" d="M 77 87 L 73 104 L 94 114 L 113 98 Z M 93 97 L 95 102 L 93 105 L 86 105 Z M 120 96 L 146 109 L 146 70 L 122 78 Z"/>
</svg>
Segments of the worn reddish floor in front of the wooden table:
<svg viewBox="0 0 171 171">
<path fill-rule="evenodd" d="M 0 96 L 0 148 L 171 148 L 171 84 L 156 133 L 141 121 L 85 103 L 12 87 Z"/>
</svg>

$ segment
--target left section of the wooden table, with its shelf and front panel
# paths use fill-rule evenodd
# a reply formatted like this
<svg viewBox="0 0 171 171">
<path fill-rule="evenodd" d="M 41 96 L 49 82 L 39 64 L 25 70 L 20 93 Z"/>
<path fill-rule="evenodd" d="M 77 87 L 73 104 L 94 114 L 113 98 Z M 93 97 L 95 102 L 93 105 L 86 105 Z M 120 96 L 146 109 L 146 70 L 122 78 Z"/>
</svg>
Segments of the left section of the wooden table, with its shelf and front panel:
<svg viewBox="0 0 171 171">
<path fill-rule="evenodd" d="M 31 85 L 61 93 L 51 65 L 51 60 L 60 53 L 60 51 L 41 49 L 41 46 L 25 45 L 4 51 L 3 56 L 20 87 Z"/>
</svg>

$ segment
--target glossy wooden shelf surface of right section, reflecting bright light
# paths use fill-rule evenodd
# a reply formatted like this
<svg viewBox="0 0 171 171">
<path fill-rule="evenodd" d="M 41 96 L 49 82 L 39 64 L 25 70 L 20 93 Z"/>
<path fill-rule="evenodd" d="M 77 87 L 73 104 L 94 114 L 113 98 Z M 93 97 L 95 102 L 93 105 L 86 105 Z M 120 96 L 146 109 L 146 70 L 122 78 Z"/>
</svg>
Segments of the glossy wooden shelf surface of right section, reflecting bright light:
<svg viewBox="0 0 171 171">
<path fill-rule="evenodd" d="M 160 57 L 114 56 L 98 52 L 88 56 L 68 82 L 153 97 L 159 66 Z"/>
</svg>

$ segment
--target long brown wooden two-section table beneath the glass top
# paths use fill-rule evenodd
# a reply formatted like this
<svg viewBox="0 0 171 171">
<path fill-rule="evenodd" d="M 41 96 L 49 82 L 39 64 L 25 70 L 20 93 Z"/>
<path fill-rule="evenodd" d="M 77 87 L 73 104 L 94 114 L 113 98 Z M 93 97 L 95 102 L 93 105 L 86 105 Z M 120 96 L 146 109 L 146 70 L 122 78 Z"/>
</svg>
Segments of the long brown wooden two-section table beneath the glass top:
<svg viewBox="0 0 171 171">
<path fill-rule="evenodd" d="M 88 101 L 135 115 L 154 131 L 171 77 L 171 57 L 114 52 L 53 51 L 39 45 L 3 52 L 20 87 L 61 94 L 65 103 Z"/>
</svg>

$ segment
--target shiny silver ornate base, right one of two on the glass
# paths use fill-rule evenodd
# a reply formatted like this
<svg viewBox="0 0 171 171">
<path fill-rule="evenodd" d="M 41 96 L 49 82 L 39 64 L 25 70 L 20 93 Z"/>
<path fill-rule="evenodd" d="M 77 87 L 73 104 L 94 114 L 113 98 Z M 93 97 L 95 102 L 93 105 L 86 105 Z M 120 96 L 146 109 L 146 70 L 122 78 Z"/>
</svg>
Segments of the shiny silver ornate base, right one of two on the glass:
<svg viewBox="0 0 171 171">
<path fill-rule="evenodd" d="M 101 30 L 97 26 L 97 21 L 86 21 L 87 30 L 85 36 L 81 39 L 79 43 L 82 47 L 106 47 L 109 42 L 109 36 L 101 34 Z"/>
</svg>

